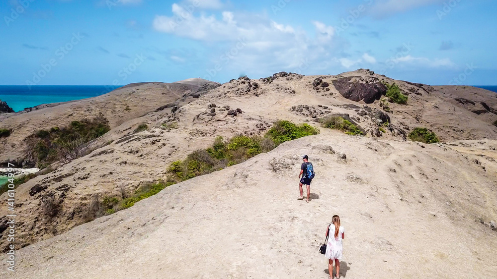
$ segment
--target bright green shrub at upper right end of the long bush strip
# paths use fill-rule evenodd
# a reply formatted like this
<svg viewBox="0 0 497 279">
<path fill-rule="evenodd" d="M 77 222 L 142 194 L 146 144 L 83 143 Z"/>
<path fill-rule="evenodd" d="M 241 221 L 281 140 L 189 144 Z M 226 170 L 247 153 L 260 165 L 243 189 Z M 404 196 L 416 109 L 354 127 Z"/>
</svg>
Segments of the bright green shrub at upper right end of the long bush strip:
<svg viewBox="0 0 497 279">
<path fill-rule="evenodd" d="M 309 124 L 296 125 L 290 121 L 279 120 L 267 131 L 266 137 L 271 138 L 276 146 L 289 140 L 319 134 L 319 128 Z"/>
</svg>

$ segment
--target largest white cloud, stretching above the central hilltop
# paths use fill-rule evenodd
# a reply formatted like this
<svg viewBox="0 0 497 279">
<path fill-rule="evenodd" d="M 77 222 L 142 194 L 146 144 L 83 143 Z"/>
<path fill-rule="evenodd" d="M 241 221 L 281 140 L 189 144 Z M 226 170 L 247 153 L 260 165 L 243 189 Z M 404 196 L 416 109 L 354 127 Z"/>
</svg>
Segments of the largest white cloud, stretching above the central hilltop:
<svg viewBox="0 0 497 279">
<path fill-rule="evenodd" d="M 324 69 L 323 64 L 332 59 L 330 54 L 336 53 L 333 52 L 334 28 L 321 22 L 313 22 L 317 35 L 310 36 L 265 15 L 223 11 L 219 18 L 205 12 L 188 12 L 177 3 L 171 10 L 172 15 L 155 17 L 154 29 L 204 42 L 207 47 L 215 45 L 210 60 L 213 65 L 227 62 L 224 69 L 232 67 L 255 74 L 267 74 L 272 70 Z M 223 54 L 238 48 L 240 42 L 243 42 L 243 48 L 226 59 Z"/>
</svg>

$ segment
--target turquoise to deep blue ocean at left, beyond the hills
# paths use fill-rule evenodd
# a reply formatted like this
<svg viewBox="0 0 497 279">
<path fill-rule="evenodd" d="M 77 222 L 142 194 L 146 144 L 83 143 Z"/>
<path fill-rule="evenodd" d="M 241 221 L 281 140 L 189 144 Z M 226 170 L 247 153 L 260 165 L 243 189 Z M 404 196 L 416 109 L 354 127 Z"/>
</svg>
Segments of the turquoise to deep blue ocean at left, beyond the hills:
<svg viewBox="0 0 497 279">
<path fill-rule="evenodd" d="M 41 104 L 91 98 L 114 89 L 117 88 L 105 85 L 38 85 L 31 88 L 25 85 L 0 85 L 0 100 L 18 112 Z"/>
</svg>

